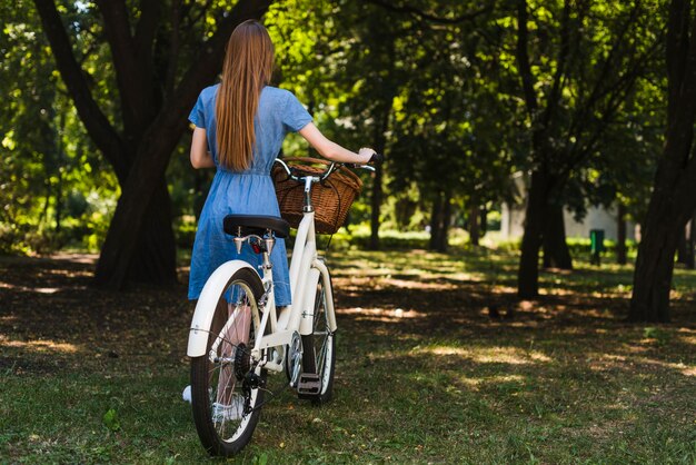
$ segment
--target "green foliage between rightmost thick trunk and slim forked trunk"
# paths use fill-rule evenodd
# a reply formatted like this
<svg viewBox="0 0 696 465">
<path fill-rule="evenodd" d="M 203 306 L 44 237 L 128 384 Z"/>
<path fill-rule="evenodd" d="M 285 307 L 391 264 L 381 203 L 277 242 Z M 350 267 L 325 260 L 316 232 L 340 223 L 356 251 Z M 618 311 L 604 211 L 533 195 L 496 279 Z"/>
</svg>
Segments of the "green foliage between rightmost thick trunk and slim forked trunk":
<svg viewBox="0 0 696 465">
<path fill-rule="evenodd" d="M 513 70 L 534 82 L 534 99 L 515 92 L 527 105 L 526 166 L 558 176 L 554 201 L 578 218 L 620 201 L 640 221 L 663 145 L 665 3 L 529 2 L 527 11 L 530 70 Z"/>
</svg>

